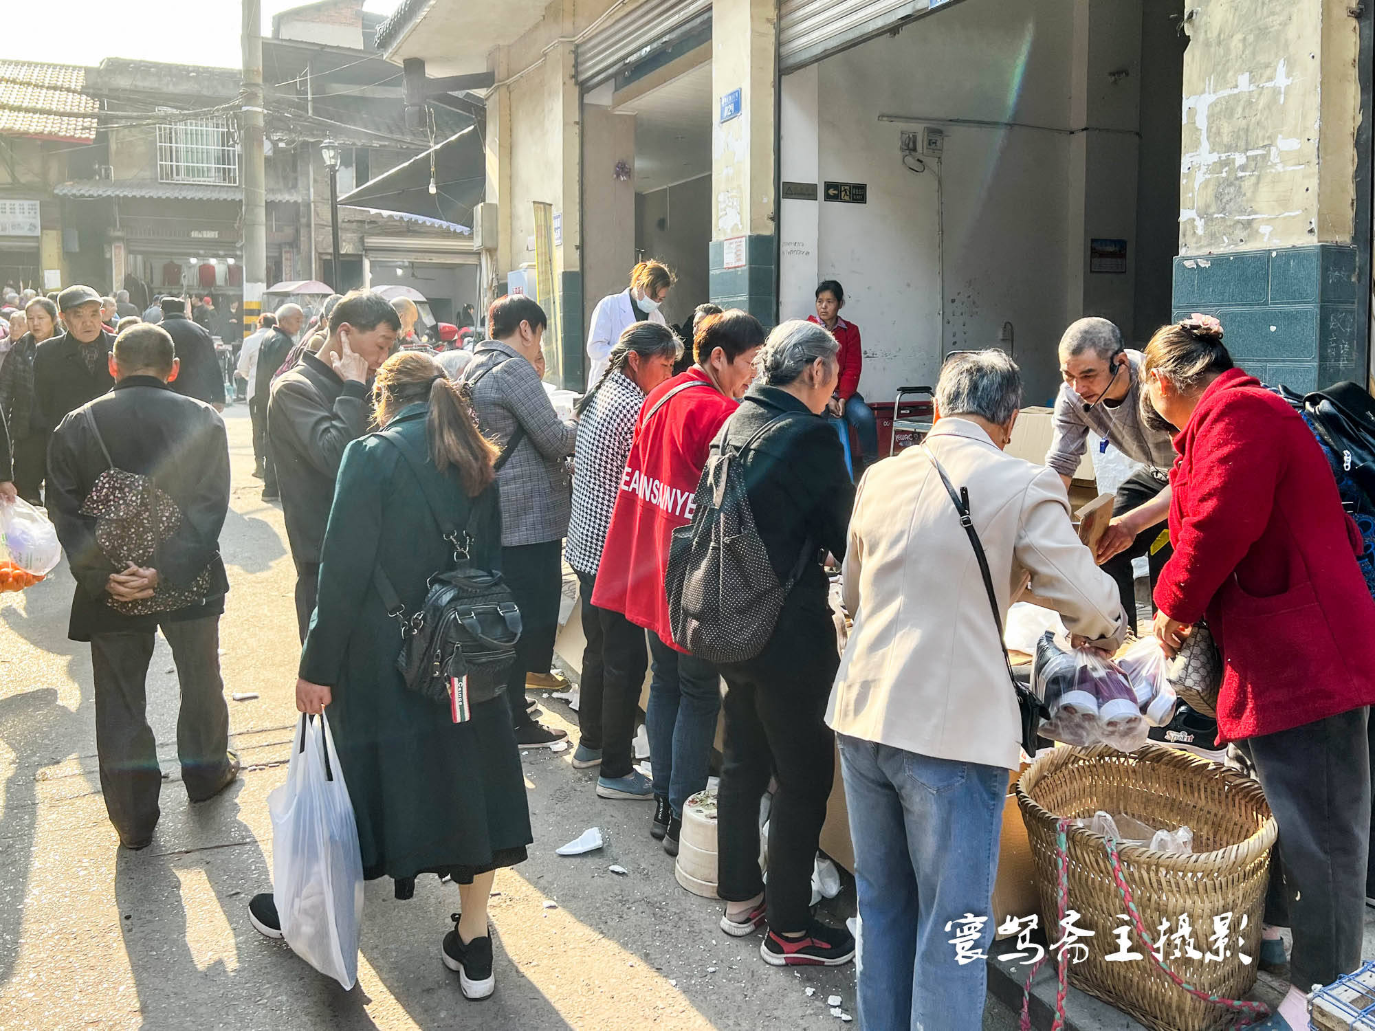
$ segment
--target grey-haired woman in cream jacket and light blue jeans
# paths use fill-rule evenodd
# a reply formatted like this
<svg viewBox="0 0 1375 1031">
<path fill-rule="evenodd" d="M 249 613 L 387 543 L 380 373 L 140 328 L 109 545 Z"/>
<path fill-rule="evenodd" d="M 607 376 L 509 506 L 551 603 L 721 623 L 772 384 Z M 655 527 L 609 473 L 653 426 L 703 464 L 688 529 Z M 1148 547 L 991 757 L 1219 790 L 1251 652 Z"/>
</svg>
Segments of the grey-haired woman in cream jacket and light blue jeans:
<svg viewBox="0 0 1375 1031">
<path fill-rule="evenodd" d="M 1070 525 L 1060 477 L 1002 451 L 1022 406 L 1016 363 L 953 355 L 935 399 L 925 443 L 859 484 L 844 559 L 854 628 L 826 722 L 864 920 L 859 1026 L 978 1031 L 1002 803 L 1022 751 L 1001 624 L 1028 579 L 1086 643 L 1115 647 L 1126 614 Z M 965 492 L 991 586 L 952 491 Z"/>
</svg>

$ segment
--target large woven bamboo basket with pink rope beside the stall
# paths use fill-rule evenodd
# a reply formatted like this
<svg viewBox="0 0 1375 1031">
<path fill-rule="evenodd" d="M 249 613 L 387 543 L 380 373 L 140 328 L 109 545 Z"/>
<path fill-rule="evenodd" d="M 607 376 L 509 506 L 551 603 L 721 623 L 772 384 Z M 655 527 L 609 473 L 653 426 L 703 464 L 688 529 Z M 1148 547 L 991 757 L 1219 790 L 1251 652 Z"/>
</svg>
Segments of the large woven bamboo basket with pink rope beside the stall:
<svg viewBox="0 0 1375 1031">
<path fill-rule="evenodd" d="M 1119 847 L 1122 872 L 1155 942 L 1162 921 L 1167 936 L 1188 916 L 1199 953 L 1210 950 L 1213 918 L 1231 913 L 1231 954 L 1222 962 L 1173 955 L 1165 962 L 1188 984 L 1204 993 L 1240 999 L 1255 984 L 1261 910 L 1269 877 L 1275 818 L 1261 786 L 1225 767 L 1162 745 L 1125 753 L 1114 748 L 1056 748 L 1037 759 L 1018 781 L 1018 806 L 1031 840 L 1041 927 L 1060 940 L 1056 818 L 1092 817 L 1097 810 L 1125 812 L 1155 828 L 1194 830 L 1192 855 L 1170 855 L 1140 845 Z M 1067 834 L 1068 909 L 1077 927 L 1092 931 L 1081 939 L 1085 962 L 1070 965 L 1070 983 L 1130 1013 L 1158 1031 L 1214 1031 L 1235 1013 L 1195 998 L 1162 973 L 1148 946 L 1130 932 L 1133 951 L 1144 958 L 1108 962 L 1116 951 L 1115 929 L 1128 924 L 1126 906 L 1112 878 L 1106 839 L 1071 826 Z M 1244 921 L 1244 928 L 1242 927 Z M 1238 957 L 1251 957 L 1242 962 Z"/>
</svg>

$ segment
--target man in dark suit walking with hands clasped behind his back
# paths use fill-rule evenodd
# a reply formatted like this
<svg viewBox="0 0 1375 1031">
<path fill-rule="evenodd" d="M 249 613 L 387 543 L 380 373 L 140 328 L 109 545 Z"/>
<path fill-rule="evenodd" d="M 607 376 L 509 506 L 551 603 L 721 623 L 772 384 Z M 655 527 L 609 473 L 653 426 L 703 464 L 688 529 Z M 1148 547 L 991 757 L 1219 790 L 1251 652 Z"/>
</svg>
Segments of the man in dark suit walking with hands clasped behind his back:
<svg viewBox="0 0 1375 1031">
<path fill-rule="evenodd" d="M 162 329 L 125 330 L 107 367 L 118 381 L 114 390 L 69 414 L 52 434 L 48 513 L 77 581 L 67 636 L 91 642 L 106 811 L 120 841 L 143 848 L 158 822 L 162 782 L 144 694 L 157 630 L 172 646 L 182 686 L 177 757 L 191 801 L 217 795 L 239 770 L 228 751 L 219 658 L 230 587 L 219 550 L 230 505 L 230 455 L 214 410 L 169 388 L 177 360 Z M 96 540 L 96 517 L 81 511 L 111 466 L 147 477 L 180 513 L 148 566 L 107 558 Z M 153 599 L 144 610 L 158 608 L 158 601 L 168 608 L 150 614 L 116 608 L 144 599 Z"/>
</svg>

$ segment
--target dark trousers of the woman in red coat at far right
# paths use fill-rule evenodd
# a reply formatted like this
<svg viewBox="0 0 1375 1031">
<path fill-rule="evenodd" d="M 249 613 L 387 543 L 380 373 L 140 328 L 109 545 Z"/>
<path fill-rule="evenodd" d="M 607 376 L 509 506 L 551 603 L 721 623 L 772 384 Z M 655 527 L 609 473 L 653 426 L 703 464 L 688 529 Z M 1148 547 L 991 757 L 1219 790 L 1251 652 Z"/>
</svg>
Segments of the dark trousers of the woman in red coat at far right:
<svg viewBox="0 0 1375 1031">
<path fill-rule="evenodd" d="M 1368 709 L 1240 742 L 1275 814 L 1265 922 L 1294 932 L 1290 982 L 1304 991 L 1361 965 L 1370 852 Z"/>
</svg>

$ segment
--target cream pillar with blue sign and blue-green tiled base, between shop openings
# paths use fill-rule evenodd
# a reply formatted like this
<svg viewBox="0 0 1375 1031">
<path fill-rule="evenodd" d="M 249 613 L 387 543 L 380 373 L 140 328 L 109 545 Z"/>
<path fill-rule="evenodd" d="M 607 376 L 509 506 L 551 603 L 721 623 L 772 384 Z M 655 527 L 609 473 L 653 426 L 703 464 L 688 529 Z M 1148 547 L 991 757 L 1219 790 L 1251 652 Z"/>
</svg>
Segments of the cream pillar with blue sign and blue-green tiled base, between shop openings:
<svg viewBox="0 0 1375 1031">
<path fill-rule="evenodd" d="M 711 16 L 711 300 L 744 308 L 771 326 L 778 311 L 774 227 L 777 0 L 730 0 L 714 4 Z M 722 99 L 736 89 L 740 91 L 740 113 L 720 121 Z M 741 236 L 742 254 L 738 246 L 726 245 Z"/>
</svg>

